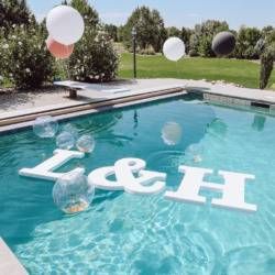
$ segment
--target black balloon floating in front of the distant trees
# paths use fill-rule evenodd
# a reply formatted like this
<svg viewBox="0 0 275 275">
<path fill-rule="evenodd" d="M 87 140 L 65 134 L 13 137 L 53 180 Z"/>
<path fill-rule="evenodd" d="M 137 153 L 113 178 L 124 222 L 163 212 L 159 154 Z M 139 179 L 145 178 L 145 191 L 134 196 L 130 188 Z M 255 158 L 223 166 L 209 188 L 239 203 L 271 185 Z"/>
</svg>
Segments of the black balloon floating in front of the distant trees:
<svg viewBox="0 0 275 275">
<path fill-rule="evenodd" d="M 212 41 L 212 51 L 218 56 L 231 54 L 235 48 L 235 36 L 231 32 L 220 32 Z"/>
</svg>

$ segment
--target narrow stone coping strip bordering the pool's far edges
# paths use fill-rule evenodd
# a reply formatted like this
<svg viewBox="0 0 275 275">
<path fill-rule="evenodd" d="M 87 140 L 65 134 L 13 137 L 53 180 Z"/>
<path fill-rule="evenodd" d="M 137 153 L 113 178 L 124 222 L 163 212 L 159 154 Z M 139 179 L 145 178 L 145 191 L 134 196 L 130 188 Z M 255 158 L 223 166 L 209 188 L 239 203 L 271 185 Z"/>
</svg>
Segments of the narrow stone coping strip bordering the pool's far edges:
<svg viewBox="0 0 275 275">
<path fill-rule="evenodd" d="M 198 87 L 191 86 L 197 84 Z M 130 90 L 129 92 L 111 95 L 109 98 L 94 99 L 88 102 L 59 103 L 2 113 L 0 114 L 0 134 L 29 128 L 32 125 L 32 121 L 41 116 L 53 116 L 57 120 L 65 120 L 88 113 L 155 101 L 162 98 L 176 97 L 188 92 L 197 92 L 211 103 L 238 107 L 258 106 L 267 108 L 271 114 L 275 114 L 275 92 L 273 91 L 190 80 L 189 82 L 183 81 L 165 87 Z"/>
</svg>

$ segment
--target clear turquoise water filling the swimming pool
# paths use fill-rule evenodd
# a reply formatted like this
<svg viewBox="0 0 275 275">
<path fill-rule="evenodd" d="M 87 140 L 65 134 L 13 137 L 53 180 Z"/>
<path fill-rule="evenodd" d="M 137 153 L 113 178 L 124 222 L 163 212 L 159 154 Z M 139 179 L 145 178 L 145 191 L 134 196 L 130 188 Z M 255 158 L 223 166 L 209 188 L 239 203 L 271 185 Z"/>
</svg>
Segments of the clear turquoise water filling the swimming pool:
<svg viewBox="0 0 275 275">
<path fill-rule="evenodd" d="M 179 144 L 163 142 L 162 128 L 176 122 Z M 67 122 L 66 122 L 67 123 Z M 52 156 L 54 140 L 31 130 L 0 136 L 0 235 L 31 274 L 275 274 L 275 118 L 260 110 L 177 98 L 69 121 L 94 134 L 91 155 L 62 172 L 87 173 L 122 157 L 140 157 L 167 173 L 167 189 L 183 178 L 180 164 L 255 175 L 245 200 L 257 212 L 173 202 L 162 195 L 96 190 L 90 209 L 65 216 L 54 205 L 53 184 L 23 178 Z M 199 156 L 199 161 L 193 157 Z M 217 176 L 207 178 L 221 182 Z M 1 261 L 1 260 L 0 260 Z"/>
</svg>

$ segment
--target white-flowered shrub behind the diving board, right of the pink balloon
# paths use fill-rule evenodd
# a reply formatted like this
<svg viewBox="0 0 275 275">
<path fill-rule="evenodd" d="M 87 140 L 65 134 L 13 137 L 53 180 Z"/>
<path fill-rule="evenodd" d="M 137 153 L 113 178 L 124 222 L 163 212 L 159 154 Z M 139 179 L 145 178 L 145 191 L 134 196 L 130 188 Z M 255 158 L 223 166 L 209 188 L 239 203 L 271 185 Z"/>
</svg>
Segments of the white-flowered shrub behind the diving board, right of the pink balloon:
<svg viewBox="0 0 275 275">
<path fill-rule="evenodd" d="M 68 61 L 69 75 L 79 81 L 110 81 L 117 76 L 118 54 L 106 33 L 91 32 L 86 31 L 77 43 Z"/>
</svg>

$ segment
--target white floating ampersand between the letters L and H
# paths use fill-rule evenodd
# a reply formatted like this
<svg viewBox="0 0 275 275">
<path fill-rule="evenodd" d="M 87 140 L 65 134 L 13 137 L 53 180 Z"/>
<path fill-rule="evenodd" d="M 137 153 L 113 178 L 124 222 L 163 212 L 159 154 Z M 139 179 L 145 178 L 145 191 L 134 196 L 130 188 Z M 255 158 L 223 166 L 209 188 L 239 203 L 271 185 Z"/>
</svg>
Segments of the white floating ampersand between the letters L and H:
<svg viewBox="0 0 275 275">
<path fill-rule="evenodd" d="M 130 194 L 154 195 L 165 188 L 166 174 L 145 170 L 140 158 L 122 158 L 114 166 L 98 168 L 88 176 L 89 184 L 103 190 L 124 190 Z M 116 176 L 117 180 L 108 179 Z"/>
</svg>

